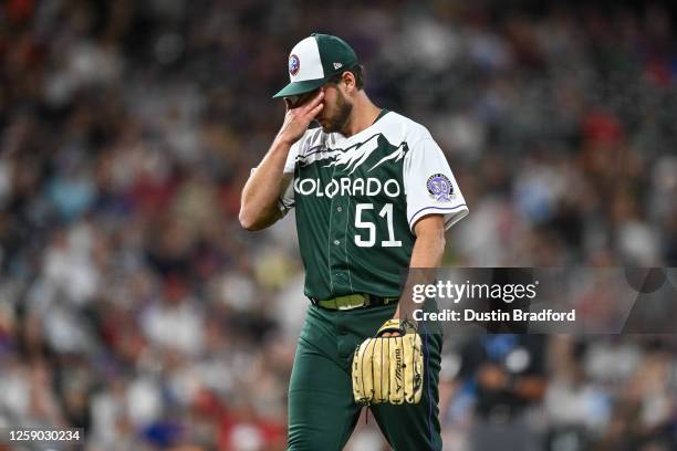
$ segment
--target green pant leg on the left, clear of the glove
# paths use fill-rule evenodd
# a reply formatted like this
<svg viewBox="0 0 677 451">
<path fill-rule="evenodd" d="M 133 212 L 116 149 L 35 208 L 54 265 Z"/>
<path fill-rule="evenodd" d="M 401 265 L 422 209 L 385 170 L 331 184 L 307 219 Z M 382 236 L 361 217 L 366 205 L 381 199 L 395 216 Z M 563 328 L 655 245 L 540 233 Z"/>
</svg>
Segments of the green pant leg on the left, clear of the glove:
<svg viewBox="0 0 677 451">
<path fill-rule="evenodd" d="M 310 307 L 289 387 L 289 451 L 342 450 L 360 407 L 330 314 Z"/>
</svg>

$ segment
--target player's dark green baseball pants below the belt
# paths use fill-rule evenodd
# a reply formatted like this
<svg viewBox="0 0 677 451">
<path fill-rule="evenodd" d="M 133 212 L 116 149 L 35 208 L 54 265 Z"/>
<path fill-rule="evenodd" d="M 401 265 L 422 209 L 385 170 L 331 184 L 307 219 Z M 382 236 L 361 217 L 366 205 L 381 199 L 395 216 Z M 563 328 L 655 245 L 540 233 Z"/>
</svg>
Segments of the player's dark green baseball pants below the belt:
<svg viewBox="0 0 677 451">
<path fill-rule="evenodd" d="M 343 449 L 361 410 L 353 400 L 353 352 L 374 336 L 396 308 L 396 304 L 352 311 L 309 307 L 289 386 L 289 451 Z M 421 401 L 369 407 L 395 451 L 441 450 L 437 403 L 442 337 L 419 332 L 424 347 Z"/>
</svg>

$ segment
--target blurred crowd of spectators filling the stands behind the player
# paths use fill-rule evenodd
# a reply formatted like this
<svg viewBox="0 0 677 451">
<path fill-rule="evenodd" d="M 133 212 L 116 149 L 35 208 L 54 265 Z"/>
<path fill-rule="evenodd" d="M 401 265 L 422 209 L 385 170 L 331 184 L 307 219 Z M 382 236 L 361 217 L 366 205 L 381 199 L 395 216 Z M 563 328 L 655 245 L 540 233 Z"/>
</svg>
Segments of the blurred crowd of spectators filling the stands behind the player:
<svg viewBox="0 0 677 451">
<path fill-rule="evenodd" d="M 246 232 L 237 213 L 289 50 L 314 31 L 351 43 L 375 103 L 447 153 L 470 216 L 446 264 L 677 266 L 660 4 L 7 0 L 0 427 L 80 427 L 94 450 L 285 448 L 308 304 L 295 226 Z M 500 347 L 447 346 L 446 449 L 515 421 L 541 449 L 675 449 L 671 336 L 513 343 L 540 365 L 502 400 L 487 392 L 514 369 L 487 350 L 468 370 L 473 345 Z M 383 447 L 373 423 L 350 449 Z"/>
</svg>

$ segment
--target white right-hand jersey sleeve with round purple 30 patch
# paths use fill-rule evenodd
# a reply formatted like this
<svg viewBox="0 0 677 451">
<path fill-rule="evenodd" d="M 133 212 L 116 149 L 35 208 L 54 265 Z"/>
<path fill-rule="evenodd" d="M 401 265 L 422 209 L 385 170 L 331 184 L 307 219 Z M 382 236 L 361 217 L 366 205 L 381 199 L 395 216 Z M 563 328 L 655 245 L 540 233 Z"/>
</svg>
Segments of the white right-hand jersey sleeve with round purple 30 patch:
<svg viewBox="0 0 677 451">
<path fill-rule="evenodd" d="M 433 138 L 423 138 L 412 146 L 405 156 L 403 176 L 412 232 L 416 221 L 427 214 L 442 214 L 445 230 L 468 214 L 445 154 Z"/>
</svg>

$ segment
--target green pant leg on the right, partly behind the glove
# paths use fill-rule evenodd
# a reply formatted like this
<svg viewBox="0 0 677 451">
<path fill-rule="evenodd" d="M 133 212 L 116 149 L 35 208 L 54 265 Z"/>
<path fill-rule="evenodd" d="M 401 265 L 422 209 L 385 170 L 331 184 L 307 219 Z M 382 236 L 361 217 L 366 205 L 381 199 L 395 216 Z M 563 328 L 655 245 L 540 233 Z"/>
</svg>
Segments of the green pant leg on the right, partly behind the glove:
<svg viewBox="0 0 677 451">
<path fill-rule="evenodd" d="M 439 370 L 441 335 L 423 334 L 424 387 L 417 405 L 382 403 L 371 407 L 372 413 L 394 451 L 439 451 Z"/>
</svg>

